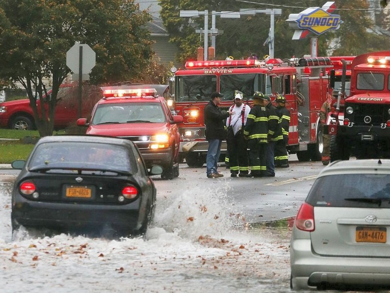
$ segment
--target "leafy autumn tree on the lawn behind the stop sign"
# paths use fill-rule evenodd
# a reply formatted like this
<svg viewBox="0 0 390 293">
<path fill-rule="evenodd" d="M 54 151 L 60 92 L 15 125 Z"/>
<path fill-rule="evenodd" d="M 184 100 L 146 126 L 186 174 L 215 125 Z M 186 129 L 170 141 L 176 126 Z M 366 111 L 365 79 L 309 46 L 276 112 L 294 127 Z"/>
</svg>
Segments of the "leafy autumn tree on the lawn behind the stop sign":
<svg viewBox="0 0 390 293">
<path fill-rule="evenodd" d="M 66 51 L 87 43 L 96 53 L 91 83 L 131 80 L 152 57 L 147 22 L 134 0 L 0 0 L 0 85 L 27 90 L 40 136 L 52 135 L 60 84 L 70 73 Z M 37 108 L 52 84 L 45 113 Z"/>
</svg>

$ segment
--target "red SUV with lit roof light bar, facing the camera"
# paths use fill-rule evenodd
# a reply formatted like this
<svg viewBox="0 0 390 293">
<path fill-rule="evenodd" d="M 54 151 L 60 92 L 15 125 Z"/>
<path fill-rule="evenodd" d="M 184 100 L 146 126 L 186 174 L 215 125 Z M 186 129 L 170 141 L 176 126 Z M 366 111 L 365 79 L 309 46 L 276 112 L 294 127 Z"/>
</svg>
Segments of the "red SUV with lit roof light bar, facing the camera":
<svg viewBox="0 0 390 293">
<path fill-rule="evenodd" d="M 115 136 L 133 141 L 139 148 L 146 167 L 161 165 L 163 179 L 179 176 L 178 123 L 164 97 L 155 88 L 136 85 L 106 86 L 103 98 L 92 110 L 90 122 L 78 119 L 78 126 L 88 126 L 87 135 Z"/>
</svg>

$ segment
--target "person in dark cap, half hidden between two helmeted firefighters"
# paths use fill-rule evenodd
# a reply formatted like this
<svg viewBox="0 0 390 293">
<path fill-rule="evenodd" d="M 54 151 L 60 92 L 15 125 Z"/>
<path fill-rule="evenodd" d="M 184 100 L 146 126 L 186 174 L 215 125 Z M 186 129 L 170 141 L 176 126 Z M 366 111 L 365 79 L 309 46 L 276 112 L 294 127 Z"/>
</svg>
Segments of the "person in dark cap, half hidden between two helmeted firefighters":
<svg viewBox="0 0 390 293">
<path fill-rule="evenodd" d="M 267 144 L 267 177 L 275 177 L 275 157 L 273 148 L 275 142 L 283 140 L 282 128 L 279 125 L 279 116 L 276 107 L 272 105 L 271 98 L 264 95 L 264 105 L 268 110 L 268 144 Z"/>
</svg>

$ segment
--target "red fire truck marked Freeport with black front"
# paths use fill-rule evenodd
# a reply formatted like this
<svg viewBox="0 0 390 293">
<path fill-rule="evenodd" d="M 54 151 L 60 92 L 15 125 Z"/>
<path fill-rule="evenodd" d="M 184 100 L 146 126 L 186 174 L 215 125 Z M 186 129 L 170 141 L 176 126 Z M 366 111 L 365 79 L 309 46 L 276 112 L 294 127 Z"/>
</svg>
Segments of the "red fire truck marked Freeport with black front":
<svg viewBox="0 0 390 293">
<path fill-rule="evenodd" d="M 390 51 L 356 56 L 351 64 L 351 90 L 341 84 L 331 109 L 331 161 L 390 157 Z M 333 83 L 333 78 L 331 78 Z"/>
</svg>

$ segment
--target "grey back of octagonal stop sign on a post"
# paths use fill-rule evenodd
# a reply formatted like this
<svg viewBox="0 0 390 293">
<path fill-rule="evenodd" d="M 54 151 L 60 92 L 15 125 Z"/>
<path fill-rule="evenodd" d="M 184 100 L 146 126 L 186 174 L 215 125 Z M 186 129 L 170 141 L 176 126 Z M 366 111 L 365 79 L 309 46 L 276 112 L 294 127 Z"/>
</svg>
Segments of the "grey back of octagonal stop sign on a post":
<svg viewBox="0 0 390 293">
<path fill-rule="evenodd" d="M 80 49 L 81 48 L 81 49 Z M 75 44 L 66 52 L 66 65 L 74 73 L 79 73 L 80 52 L 82 60 L 82 74 L 87 74 L 95 66 L 96 53 L 87 44 Z"/>
</svg>

